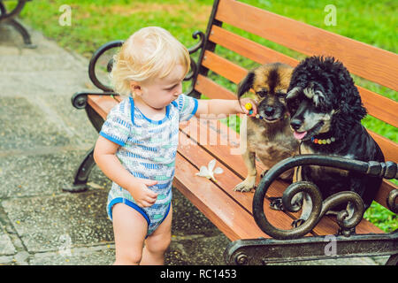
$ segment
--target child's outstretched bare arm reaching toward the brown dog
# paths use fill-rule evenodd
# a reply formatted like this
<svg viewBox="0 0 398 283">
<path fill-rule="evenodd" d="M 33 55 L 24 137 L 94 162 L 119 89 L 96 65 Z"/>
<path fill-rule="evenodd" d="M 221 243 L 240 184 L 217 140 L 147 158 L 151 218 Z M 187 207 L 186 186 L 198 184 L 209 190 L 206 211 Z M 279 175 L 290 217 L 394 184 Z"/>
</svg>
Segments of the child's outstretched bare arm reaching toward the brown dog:
<svg viewBox="0 0 398 283">
<path fill-rule="evenodd" d="M 226 100 L 226 99 L 210 99 L 210 100 L 198 100 L 196 117 L 204 118 L 217 118 L 219 114 L 249 114 L 249 110 L 245 108 L 246 103 L 252 104 L 253 113 L 251 115 L 256 116 L 257 108 L 254 100 L 250 98 L 241 98 L 239 100 Z M 206 115 L 213 114 L 213 116 L 207 117 Z M 216 117 L 214 117 L 216 115 Z"/>
</svg>

